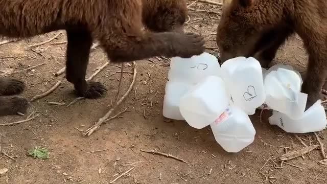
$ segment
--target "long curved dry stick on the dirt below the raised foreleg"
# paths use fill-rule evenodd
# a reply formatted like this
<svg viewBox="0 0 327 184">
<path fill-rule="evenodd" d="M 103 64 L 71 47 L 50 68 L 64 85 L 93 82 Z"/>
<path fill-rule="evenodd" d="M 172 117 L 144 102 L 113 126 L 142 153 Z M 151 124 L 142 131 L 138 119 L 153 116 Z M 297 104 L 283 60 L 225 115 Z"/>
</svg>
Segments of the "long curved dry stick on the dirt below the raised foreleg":
<svg viewBox="0 0 327 184">
<path fill-rule="evenodd" d="M 127 89 L 125 95 L 105 114 L 104 117 L 100 118 L 99 121 L 97 123 L 95 123 L 95 125 L 91 126 L 90 128 L 88 128 L 85 132 L 83 132 L 83 135 L 87 135 L 87 136 L 90 136 L 94 131 L 96 131 L 97 129 L 100 128 L 100 125 L 105 122 L 110 114 L 112 113 L 112 111 L 117 107 L 119 106 L 123 100 L 128 96 L 128 94 L 130 93 L 131 89 L 133 88 L 134 86 L 134 83 L 135 83 L 135 80 L 136 80 L 136 62 L 134 61 L 133 62 L 133 67 L 134 67 L 134 75 L 133 75 L 133 80 L 132 80 L 132 83 L 131 85 L 129 86 L 129 88 Z"/>
</svg>

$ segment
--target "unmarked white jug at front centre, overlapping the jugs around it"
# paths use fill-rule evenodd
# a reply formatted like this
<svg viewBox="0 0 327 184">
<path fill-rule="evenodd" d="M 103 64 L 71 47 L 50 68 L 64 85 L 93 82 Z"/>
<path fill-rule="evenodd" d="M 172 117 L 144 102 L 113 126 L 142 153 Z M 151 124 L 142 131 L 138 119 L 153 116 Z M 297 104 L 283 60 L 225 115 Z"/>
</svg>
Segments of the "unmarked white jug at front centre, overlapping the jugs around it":
<svg viewBox="0 0 327 184">
<path fill-rule="evenodd" d="M 224 81 L 209 76 L 180 99 L 179 111 L 190 126 L 201 129 L 212 124 L 223 113 L 228 107 L 228 97 Z"/>
</svg>

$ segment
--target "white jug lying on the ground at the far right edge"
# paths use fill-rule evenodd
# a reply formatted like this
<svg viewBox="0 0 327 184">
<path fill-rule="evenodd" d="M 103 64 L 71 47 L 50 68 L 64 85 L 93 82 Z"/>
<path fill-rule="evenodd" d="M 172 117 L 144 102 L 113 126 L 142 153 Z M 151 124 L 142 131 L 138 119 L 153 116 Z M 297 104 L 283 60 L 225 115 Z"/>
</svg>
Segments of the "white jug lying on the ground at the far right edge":
<svg viewBox="0 0 327 184">
<path fill-rule="evenodd" d="M 272 116 L 269 117 L 269 123 L 289 133 L 309 133 L 326 128 L 327 119 L 321 100 L 318 100 L 298 119 L 291 119 L 284 113 L 273 111 Z"/>
</svg>

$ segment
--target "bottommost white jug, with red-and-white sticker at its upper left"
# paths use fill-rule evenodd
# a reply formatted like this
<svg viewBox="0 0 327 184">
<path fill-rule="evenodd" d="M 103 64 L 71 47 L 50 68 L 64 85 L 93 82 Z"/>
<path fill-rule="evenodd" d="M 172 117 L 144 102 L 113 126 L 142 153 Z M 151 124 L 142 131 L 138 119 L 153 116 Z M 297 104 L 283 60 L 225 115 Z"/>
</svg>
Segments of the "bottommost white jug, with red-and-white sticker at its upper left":
<svg viewBox="0 0 327 184">
<path fill-rule="evenodd" d="M 228 107 L 210 126 L 215 140 L 227 152 L 239 152 L 254 141 L 249 116 L 236 106 Z"/>
</svg>

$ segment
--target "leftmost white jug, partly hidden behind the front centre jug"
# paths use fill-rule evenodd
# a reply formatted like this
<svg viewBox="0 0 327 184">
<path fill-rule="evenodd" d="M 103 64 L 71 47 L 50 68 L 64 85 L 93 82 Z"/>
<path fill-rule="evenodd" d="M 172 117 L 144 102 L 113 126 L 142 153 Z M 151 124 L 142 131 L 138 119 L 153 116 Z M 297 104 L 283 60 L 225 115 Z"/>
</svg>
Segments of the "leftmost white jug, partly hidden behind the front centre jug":
<svg viewBox="0 0 327 184">
<path fill-rule="evenodd" d="M 168 81 L 164 96 L 162 115 L 173 120 L 184 120 L 179 111 L 180 98 L 186 94 L 193 85 L 181 81 Z"/>
</svg>

